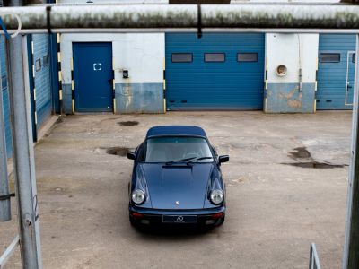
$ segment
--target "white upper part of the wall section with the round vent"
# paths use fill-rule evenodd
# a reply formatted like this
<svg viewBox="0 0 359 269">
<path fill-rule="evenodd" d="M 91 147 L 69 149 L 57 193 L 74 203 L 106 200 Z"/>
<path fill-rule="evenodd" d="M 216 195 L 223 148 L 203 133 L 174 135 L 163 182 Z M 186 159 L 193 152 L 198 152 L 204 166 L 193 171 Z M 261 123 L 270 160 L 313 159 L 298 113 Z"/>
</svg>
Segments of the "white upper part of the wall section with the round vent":
<svg viewBox="0 0 359 269">
<path fill-rule="evenodd" d="M 266 34 L 268 83 L 315 82 L 318 58 L 318 34 Z M 287 74 L 278 76 L 276 67 L 285 65 Z"/>
</svg>

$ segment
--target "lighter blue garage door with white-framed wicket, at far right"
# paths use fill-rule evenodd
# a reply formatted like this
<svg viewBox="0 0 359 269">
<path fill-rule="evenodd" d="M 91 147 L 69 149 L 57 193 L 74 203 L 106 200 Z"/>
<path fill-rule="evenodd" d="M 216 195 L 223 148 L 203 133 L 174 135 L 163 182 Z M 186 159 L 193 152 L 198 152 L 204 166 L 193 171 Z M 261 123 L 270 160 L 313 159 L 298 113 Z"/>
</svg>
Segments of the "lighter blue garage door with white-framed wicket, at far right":
<svg viewBox="0 0 359 269">
<path fill-rule="evenodd" d="M 355 35 L 320 34 L 317 109 L 352 109 Z"/>
</svg>

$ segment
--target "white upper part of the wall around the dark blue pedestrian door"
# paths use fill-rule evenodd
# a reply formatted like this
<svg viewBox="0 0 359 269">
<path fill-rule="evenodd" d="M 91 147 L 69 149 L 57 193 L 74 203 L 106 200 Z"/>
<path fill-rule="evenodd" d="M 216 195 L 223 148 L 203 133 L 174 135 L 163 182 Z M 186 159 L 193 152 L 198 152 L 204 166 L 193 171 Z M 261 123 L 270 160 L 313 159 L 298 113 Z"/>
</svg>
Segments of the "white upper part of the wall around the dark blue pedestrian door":
<svg viewBox="0 0 359 269">
<path fill-rule="evenodd" d="M 63 83 L 71 83 L 73 42 L 112 42 L 115 82 L 124 82 L 122 70 L 129 72 L 131 83 L 163 82 L 164 34 L 62 34 L 61 71 Z M 127 81 L 128 82 L 128 81 Z"/>
</svg>

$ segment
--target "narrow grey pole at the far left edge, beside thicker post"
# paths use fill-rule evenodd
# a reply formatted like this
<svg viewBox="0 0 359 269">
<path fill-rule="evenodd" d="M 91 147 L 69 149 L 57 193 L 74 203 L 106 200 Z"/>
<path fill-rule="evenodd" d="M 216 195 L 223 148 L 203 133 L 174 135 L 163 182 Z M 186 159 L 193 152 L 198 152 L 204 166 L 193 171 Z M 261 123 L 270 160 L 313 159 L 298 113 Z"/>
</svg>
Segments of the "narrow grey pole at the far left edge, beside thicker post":
<svg viewBox="0 0 359 269">
<path fill-rule="evenodd" d="M 0 65 L 0 77 L 2 77 L 1 74 Z M 7 154 L 3 107 L 3 82 L 2 79 L 0 79 L 0 221 L 10 221 L 11 204 L 9 193 L 9 178 L 7 177 Z"/>
</svg>

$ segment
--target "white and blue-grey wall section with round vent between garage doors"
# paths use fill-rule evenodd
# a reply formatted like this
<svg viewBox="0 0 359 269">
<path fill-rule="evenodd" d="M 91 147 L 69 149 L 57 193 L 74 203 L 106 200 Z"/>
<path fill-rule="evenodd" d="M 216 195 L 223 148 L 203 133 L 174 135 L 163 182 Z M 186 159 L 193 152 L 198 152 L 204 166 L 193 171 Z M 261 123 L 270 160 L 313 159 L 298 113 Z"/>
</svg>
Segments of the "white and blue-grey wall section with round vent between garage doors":
<svg viewBox="0 0 359 269">
<path fill-rule="evenodd" d="M 266 34 L 267 113 L 315 111 L 318 42 L 318 34 Z M 276 74 L 278 65 L 287 67 L 285 76 Z"/>
</svg>

